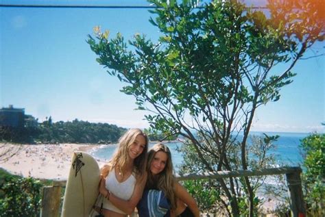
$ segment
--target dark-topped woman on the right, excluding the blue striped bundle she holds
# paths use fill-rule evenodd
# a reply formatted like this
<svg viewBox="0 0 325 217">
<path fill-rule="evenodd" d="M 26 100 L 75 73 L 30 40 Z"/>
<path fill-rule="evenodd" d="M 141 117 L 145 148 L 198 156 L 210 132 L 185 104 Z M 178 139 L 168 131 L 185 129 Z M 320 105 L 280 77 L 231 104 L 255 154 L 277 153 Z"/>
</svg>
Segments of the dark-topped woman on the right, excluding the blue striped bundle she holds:
<svg viewBox="0 0 325 217">
<path fill-rule="evenodd" d="M 191 194 L 189 194 L 189 192 L 187 192 L 187 190 L 176 181 L 175 176 L 173 175 L 171 152 L 165 144 L 155 144 L 149 150 L 146 170 L 146 192 L 147 190 L 160 190 L 165 194 L 164 196 L 169 201 L 171 212 L 167 212 L 167 215 L 165 216 L 200 216 L 197 203 Z M 163 197 L 160 197 L 158 201 L 163 201 Z M 141 205 L 143 202 L 147 204 L 149 203 L 149 199 L 144 196 L 138 205 L 138 209 L 147 209 L 147 205 Z M 163 207 L 160 207 L 159 210 L 162 209 Z M 139 216 L 147 216 L 147 214 L 145 214 L 146 212 L 147 210 L 145 210 L 145 212 L 139 210 Z M 151 210 L 149 212 L 155 211 Z"/>
</svg>

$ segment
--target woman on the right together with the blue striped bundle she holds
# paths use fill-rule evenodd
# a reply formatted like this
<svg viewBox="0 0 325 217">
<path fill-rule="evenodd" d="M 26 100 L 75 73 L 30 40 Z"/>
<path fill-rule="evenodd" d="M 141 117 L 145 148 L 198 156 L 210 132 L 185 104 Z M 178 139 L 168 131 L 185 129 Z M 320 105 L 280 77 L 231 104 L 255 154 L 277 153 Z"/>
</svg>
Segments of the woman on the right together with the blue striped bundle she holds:
<svg viewBox="0 0 325 217">
<path fill-rule="evenodd" d="M 137 205 L 140 217 L 152 216 L 152 213 L 153 216 L 200 216 L 197 203 L 173 175 L 171 151 L 165 144 L 155 144 L 149 150 L 146 170 L 145 192 Z"/>
</svg>

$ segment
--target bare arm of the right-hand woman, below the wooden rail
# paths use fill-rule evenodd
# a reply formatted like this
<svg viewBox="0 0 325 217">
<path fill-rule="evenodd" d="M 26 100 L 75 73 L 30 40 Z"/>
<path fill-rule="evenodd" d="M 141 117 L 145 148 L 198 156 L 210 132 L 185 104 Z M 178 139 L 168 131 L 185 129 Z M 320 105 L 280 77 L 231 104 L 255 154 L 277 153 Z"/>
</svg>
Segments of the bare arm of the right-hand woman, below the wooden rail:
<svg viewBox="0 0 325 217">
<path fill-rule="evenodd" d="M 197 207 L 196 201 L 193 199 L 191 194 L 187 192 L 187 190 L 180 185 L 180 183 L 175 183 L 175 194 L 180 201 L 185 203 L 189 209 L 191 209 L 191 212 L 194 214 L 195 217 L 200 217 L 200 210 L 199 207 Z"/>
</svg>

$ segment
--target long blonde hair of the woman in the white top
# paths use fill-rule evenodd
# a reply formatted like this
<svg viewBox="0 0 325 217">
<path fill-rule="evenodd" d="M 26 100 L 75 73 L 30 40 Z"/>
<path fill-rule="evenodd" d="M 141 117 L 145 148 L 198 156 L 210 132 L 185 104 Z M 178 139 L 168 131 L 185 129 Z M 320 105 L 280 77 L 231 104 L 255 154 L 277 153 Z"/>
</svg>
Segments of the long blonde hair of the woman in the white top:
<svg viewBox="0 0 325 217">
<path fill-rule="evenodd" d="M 130 163 L 130 155 L 129 148 L 130 145 L 136 139 L 136 136 L 143 136 L 145 138 L 145 148 L 143 152 L 134 159 L 134 167 L 133 172 L 136 175 L 136 179 L 142 178 L 145 173 L 145 164 L 147 162 L 147 150 L 148 150 L 148 138 L 141 129 L 129 129 L 124 133 L 121 138 L 119 138 L 119 146 L 115 151 L 112 159 L 110 159 L 110 170 L 117 166 L 119 170 L 121 170 L 121 174 L 123 175 L 123 171 L 125 171 L 126 166 Z"/>
</svg>

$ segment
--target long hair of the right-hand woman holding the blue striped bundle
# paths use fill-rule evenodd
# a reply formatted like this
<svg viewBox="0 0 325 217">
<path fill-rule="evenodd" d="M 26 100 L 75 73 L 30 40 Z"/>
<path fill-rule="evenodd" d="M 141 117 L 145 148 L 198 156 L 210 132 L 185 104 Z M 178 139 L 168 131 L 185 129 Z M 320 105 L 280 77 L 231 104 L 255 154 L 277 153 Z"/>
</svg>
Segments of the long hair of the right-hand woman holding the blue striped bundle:
<svg viewBox="0 0 325 217">
<path fill-rule="evenodd" d="M 153 175 L 150 171 L 152 160 L 158 151 L 163 151 L 167 154 L 167 162 L 163 171 Z M 147 184 L 146 188 L 148 189 L 157 189 L 162 190 L 169 199 L 171 203 L 171 209 L 176 209 L 177 199 L 174 193 L 174 183 L 176 181 L 175 176 L 173 175 L 173 162 L 171 161 L 171 151 L 165 144 L 157 143 L 149 150 L 148 153 L 148 162 L 147 162 Z"/>
</svg>

